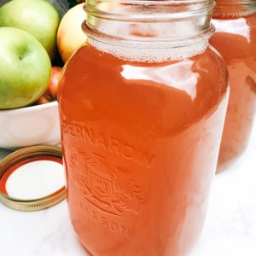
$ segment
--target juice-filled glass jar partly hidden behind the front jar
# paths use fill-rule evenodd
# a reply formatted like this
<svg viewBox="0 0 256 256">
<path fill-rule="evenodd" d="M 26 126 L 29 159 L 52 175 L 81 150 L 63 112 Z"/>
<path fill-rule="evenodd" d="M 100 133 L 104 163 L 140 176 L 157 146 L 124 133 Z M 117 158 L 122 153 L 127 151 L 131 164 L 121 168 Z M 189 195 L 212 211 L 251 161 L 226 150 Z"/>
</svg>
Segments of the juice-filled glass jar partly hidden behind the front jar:
<svg viewBox="0 0 256 256">
<path fill-rule="evenodd" d="M 230 73 L 230 102 L 218 158 L 218 172 L 247 147 L 256 109 L 256 2 L 217 0 L 210 40 Z"/>
</svg>

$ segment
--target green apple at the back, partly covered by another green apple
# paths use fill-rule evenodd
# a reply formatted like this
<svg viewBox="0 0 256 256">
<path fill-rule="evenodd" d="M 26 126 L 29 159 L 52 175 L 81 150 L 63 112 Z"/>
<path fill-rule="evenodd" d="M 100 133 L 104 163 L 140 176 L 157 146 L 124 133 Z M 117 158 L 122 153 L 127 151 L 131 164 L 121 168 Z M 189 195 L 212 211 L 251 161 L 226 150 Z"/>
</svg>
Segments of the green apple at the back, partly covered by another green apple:
<svg viewBox="0 0 256 256">
<path fill-rule="evenodd" d="M 47 50 L 51 60 L 56 54 L 56 33 L 60 16 L 44 0 L 13 0 L 0 9 L 0 26 L 20 28 L 32 34 Z"/>
</svg>

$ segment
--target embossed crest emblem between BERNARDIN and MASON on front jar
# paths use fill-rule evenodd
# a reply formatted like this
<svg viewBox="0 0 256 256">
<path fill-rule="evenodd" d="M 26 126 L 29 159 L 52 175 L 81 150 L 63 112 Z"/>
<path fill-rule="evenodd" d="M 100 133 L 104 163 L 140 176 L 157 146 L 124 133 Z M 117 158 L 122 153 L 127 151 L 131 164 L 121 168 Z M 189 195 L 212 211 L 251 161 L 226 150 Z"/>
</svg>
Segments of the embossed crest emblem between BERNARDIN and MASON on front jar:
<svg viewBox="0 0 256 256">
<path fill-rule="evenodd" d="M 125 166 L 112 166 L 108 158 L 77 149 L 70 158 L 73 182 L 86 201 L 103 212 L 137 214 L 143 206 L 142 189 Z"/>
</svg>

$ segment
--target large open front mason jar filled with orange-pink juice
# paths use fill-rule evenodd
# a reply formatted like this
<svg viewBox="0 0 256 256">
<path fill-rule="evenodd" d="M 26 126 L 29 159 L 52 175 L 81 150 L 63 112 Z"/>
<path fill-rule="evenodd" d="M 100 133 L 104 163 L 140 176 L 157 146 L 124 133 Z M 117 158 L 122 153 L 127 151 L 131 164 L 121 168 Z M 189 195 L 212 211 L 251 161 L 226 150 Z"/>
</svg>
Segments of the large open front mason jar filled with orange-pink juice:
<svg viewBox="0 0 256 256">
<path fill-rule="evenodd" d="M 92 255 L 184 255 L 200 235 L 228 99 L 213 1 L 86 3 L 61 77 L 70 218 Z"/>
</svg>

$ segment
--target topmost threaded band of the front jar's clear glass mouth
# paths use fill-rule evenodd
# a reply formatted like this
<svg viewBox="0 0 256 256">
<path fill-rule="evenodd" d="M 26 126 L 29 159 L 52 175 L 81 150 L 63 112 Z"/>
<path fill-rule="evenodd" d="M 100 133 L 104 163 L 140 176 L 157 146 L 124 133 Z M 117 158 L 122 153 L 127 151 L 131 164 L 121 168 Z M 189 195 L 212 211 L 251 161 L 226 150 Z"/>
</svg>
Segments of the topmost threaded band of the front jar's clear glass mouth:
<svg viewBox="0 0 256 256">
<path fill-rule="evenodd" d="M 188 20 L 211 15 L 214 4 L 214 0 L 87 0 L 84 11 L 87 13 L 87 20 L 94 17 L 104 20 L 157 22 Z M 133 9 L 128 9 L 129 6 Z M 136 12 L 134 11 L 136 6 L 143 9 Z M 150 8 L 158 10 L 150 12 Z"/>
</svg>

